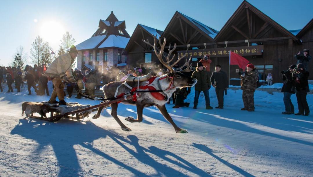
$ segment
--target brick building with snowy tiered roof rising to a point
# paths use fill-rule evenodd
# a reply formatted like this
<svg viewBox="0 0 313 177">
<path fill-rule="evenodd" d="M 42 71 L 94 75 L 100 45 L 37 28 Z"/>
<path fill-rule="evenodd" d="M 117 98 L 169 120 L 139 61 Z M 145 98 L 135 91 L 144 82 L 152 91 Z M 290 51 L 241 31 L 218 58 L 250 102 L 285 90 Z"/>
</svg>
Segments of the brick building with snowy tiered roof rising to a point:
<svg viewBox="0 0 313 177">
<path fill-rule="evenodd" d="M 126 55 L 122 55 L 130 35 L 125 30 L 125 21 L 118 21 L 113 11 L 106 20 L 99 21 L 99 26 L 91 38 L 77 44 L 77 67 L 102 69 L 126 63 Z"/>
</svg>

